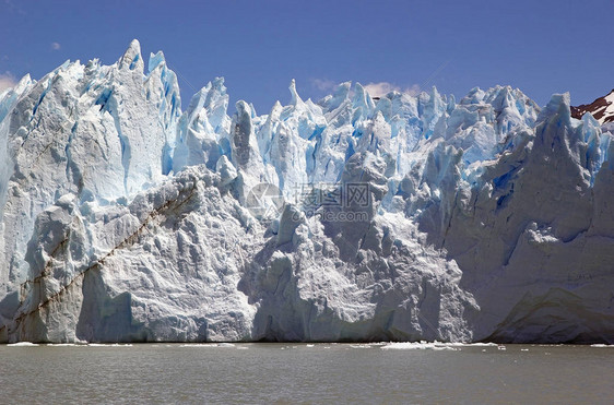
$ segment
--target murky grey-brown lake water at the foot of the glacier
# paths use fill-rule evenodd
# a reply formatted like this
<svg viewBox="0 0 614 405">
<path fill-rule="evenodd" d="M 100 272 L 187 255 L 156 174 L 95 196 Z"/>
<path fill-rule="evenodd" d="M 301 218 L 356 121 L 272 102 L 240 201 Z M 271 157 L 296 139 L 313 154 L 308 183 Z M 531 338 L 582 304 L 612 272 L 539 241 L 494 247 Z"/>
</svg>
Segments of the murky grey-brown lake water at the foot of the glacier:
<svg viewBox="0 0 614 405">
<path fill-rule="evenodd" d="M 2 345 L 0 361 L 5 404 L 614 402 L 612 346 Z"/>
</svg>

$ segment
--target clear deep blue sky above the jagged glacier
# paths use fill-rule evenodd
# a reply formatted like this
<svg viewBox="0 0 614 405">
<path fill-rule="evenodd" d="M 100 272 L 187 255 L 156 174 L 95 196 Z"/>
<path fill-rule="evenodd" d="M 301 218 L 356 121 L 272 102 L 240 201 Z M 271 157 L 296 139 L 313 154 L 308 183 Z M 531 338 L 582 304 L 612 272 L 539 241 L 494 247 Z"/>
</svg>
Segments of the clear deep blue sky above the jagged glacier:
<svg viewBox="0 0 614 405">
<path fill-rule="evenodd" d="M 351 80 L 457 97 L 510 84 L 581 104 L 614 87 L 613 15 L 611 0 L 0 0 L 0 87 L 67 59 L 110 64 L 138 38 L 145 59 L 164 51 L 184 106 L 220 75 L 259 114 L 288 103 L 293 78 L 303 98 Z"/>
</svg>

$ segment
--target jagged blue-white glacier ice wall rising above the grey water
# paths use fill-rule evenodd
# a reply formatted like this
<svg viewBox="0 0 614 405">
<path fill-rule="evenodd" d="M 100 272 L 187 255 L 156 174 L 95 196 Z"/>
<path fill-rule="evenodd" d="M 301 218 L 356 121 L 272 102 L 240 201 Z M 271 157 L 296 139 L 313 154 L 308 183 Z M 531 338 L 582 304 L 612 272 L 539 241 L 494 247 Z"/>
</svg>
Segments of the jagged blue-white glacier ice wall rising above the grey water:
<svg viewBox="0 0 614 405">
<path fill-rule="evenodd" d="M 0 341 L 609 342 L 614 144 L 569 97 L 180 110 L 160 52 L 0 94 Z"/>
</svg>

